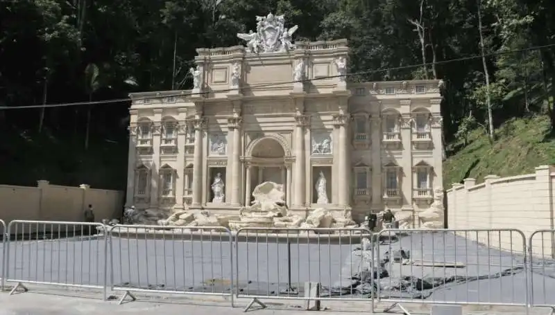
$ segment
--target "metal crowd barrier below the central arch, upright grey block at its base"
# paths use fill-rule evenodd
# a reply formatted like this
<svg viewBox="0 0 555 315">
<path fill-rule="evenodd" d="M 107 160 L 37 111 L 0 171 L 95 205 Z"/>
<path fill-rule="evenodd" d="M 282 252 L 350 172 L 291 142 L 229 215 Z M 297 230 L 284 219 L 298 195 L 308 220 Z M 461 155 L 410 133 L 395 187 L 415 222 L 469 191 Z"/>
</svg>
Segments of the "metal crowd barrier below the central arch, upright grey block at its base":
<svg viewBox="0 0 555 315">
<path fill-rule="evenodd" d="M 373 251 L 364 228 L 241 228 L 237 298 L 364 300 L 373 307 Z"/>
</svg>

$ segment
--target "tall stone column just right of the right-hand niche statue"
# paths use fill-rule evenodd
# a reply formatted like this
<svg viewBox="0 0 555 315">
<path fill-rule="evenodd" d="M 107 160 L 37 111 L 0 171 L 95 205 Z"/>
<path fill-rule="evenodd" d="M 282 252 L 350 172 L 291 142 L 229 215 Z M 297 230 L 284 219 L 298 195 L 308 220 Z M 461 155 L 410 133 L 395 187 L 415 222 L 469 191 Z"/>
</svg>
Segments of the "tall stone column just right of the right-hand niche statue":
<svg viewBox="0 0 555 315">
<path fill-rule="evenodd" d="M 339 206 L 349 205 L 349 161 L 347 151 L 349 150 L 349 141 L 347 134 L 347 125 L 349 120 L 348 114 L 339 114 L 335 117 L 336 125 L 339 126 L 339 179 L 337 185 L 339 186 Z"/>
</svg>

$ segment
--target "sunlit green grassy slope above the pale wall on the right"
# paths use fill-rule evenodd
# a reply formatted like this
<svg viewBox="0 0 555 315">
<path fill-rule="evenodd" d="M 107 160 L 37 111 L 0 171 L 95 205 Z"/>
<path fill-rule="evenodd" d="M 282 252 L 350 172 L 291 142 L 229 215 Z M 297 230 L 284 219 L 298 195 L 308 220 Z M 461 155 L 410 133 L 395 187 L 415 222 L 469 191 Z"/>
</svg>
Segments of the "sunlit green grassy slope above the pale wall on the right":
<svg viewBox="0 0 555 315">
<path fill-rule="evenodd" d="M 444 188 L 472 177 L 483 181 L 488 174 L 500 177 L 534 172 L 538 165 L 555 164 L 555 136 L 547 116 L 513 118 L 496 130 L 493 145 L 484 128 L 469 133 L 462 141 L 449 145 L 461 147 L 443 163 Z"/>
</svg>

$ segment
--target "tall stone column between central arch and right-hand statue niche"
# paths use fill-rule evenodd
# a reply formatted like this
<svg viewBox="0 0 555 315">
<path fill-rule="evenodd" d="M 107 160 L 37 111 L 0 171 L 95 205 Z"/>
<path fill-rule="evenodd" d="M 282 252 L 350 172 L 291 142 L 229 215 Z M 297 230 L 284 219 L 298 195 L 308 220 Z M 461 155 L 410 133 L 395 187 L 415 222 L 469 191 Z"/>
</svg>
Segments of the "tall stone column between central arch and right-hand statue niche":
<svg viewBox="0 0 555 315">
<path fill-rule="evenodd" d="M 295 117 L 295 198 L 293 206 L 298 208 L 305 207 L 305 190 L 306 190 L 306 171 L 305 171 L 305 128 L 309 123 L 310 116 L 298 115 Z"/>
</svg>

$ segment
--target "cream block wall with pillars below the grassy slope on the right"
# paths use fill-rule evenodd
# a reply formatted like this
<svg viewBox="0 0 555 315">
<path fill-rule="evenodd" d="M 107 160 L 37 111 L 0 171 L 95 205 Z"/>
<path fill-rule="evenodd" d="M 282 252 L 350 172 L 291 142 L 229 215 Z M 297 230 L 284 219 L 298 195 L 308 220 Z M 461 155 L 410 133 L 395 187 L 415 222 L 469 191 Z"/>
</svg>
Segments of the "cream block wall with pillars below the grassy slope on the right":
<svg viewBox="0 0 555 315">
<path fill-rule="evenodd" d="M 454 229 L 499 229 L 479 233 L 479 242 L 505 250 L 522 251 L 522 237 L 509 229 L 518 229 L 528 239 L 533 231 L 554 228 L 552 182 L 555 169 L 539 166 L 533 174 L 499 178 L 489 175 L 484 183 L 465 179 L 447 190 L 448 227 Z M 464 232 L 461 232 L 464 233 Z M 476 238 L 476 233 L 468 232 Z M 552 235 L 535 235 L 532 251 L 536 255 L 552 255 Z"/>
</svg>

